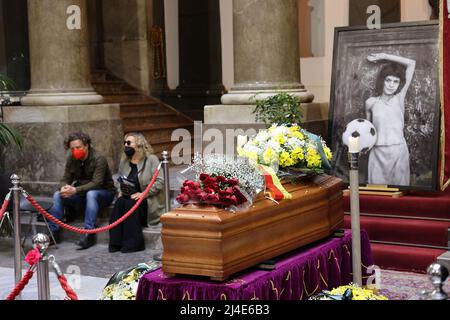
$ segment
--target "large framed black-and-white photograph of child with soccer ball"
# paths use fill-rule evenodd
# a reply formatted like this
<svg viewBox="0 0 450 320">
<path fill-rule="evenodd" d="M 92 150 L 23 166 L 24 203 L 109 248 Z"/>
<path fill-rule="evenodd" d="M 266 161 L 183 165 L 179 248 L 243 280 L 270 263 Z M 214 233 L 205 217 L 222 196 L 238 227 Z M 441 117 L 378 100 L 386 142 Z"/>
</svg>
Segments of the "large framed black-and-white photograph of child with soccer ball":
<svg viewBox="0 0 450 320">
<path fill-rule="evenodd" d="M 360 185 L 436 190 L 438 38 L 434 21 L 373 30 L 336 28 L 329 141 L 333 174 L 345 183 L 348 148 L 343 135 L 347 139 L 361 132 Z"/>
</svg>

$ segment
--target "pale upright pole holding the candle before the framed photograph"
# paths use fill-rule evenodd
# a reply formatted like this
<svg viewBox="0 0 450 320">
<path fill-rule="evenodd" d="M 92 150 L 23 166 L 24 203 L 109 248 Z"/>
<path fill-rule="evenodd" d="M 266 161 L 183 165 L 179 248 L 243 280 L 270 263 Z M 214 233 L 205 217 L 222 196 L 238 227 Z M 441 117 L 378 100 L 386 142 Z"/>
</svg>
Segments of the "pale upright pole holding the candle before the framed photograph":
<svg viewBox="0 0 450 320">
<path fill-rule="evenodd" d="M 362 287 L 361 225 L 359 221 L 359 152 L 348 154 L 350 165 L 350 212 L 352 221 L 353 283 Z"/>
</svg>

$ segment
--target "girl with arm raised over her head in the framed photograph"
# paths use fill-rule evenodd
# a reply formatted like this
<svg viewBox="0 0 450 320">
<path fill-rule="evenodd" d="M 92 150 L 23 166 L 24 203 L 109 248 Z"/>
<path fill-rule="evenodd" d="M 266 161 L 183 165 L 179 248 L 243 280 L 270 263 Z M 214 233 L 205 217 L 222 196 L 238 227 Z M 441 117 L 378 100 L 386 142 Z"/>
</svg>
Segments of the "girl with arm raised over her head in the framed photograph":
<svg viewBox="0 0 450 320">
<path fill-rule="evenodd" d="M 369 155 L 368 183 L 408 186 L 409 150 L 403 133 L 405 96 L 416 62 L 387 53 L 371 54 L 367 60 L 388 61 L 378 75 L 376 95 L 365 103 L 367 120 L 377 129 L 377 142 Z"/>
</svg>

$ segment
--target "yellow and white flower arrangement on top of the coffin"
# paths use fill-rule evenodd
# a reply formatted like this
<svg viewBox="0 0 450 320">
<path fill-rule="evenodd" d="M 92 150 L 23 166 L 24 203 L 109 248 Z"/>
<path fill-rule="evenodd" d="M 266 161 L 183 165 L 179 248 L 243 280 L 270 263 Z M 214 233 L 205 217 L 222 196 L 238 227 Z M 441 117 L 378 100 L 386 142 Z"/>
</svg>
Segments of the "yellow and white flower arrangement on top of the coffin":
<svg viewBox="0 0 450 320">
<path fill-rule="evenodd" d="M 238 154 L 265 166 L 322 170 L 329 167 L 331 150 L 318 136 L 294 124 L 272 125 L 261 130 L 244 145 L 238 146 Z"/>
</svg>

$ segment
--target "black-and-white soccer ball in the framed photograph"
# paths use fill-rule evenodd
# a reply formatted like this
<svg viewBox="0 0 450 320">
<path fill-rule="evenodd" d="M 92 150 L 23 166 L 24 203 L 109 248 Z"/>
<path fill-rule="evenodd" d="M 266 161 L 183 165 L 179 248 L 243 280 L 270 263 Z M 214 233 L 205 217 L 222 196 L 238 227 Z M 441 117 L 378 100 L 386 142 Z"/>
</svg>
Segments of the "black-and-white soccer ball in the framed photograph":
<svg viewBox="0 0 450 320">
<path fill-rule="evenodd" d="M 359 137 L 359 151 L 367 152 L 377 142 L 377 130 L 372 122 L 366 119 L 355 119 L 345 126 L 342 134 L 342 142 L 348 146 L 348 139 L 352 137 Z"/>
</svg>

